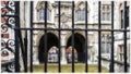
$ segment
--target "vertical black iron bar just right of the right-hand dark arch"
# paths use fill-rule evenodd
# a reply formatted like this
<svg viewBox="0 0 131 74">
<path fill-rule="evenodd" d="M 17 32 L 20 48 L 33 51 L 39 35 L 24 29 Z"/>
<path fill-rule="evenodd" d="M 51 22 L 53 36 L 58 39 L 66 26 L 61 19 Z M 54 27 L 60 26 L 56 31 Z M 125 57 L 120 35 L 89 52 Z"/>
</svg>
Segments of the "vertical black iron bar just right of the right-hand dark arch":
<svg viewBox="0 0 131 74">
<path fill-rule="evenodd" d="M 85 29 L 87 29 L 87 1 L 85 1 Z M 85 30 L 85 72 L 87 73 L 87 30 Z"/>
</svg>

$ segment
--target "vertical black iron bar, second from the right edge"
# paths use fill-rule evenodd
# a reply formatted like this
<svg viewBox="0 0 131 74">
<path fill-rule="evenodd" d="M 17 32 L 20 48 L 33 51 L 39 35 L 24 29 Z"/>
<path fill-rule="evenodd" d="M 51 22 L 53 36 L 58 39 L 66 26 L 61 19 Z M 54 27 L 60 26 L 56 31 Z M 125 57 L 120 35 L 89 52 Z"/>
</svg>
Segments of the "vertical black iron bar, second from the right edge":
<svg viewBox="0 0 131 74">
<path fill-rule="evenodd" d="M 114 29 L 114 1 L 111 1 L 111 29 Z M 114 32 L 111 32 L 111 62 L 110 62 L 110 70 L 109 72 L 114 72 Z"/>
</svg>

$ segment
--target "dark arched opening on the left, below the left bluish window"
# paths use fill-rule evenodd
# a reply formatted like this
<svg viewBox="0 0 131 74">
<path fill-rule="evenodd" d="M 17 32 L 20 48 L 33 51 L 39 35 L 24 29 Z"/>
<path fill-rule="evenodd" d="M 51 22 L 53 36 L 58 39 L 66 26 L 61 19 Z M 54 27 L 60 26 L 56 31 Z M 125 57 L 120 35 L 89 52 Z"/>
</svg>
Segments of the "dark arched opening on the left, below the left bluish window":
<svg viewBox="0 0 131 74">
<path fill-rule="evenodd" d="M 45 62 L 45 59 L 44 59 L 44 53 L 45 53 L 44 39 L 45 39 L 45 35 L 39 40 L 39 47 L 38 47 L 39 63 Z M 56 48 L 58 47 L 58 38 L 56 35 L 48 33 L 47 34 L 47 51 L 46 52 L 50 52 L 50 49 L 52 49 L 53 47 L 56 47 Z M 47 59 L 48 59 L 48 57 L 47 57 Z"/>
</svg>

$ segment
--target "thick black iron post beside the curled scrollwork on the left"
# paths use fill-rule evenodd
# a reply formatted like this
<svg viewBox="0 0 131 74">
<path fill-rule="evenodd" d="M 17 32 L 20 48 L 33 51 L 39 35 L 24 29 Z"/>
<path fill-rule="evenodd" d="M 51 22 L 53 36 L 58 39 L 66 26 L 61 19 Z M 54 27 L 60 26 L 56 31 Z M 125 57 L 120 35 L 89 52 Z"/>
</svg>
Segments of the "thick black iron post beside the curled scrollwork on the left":
<svg viewBox="0 0 131 74">
<path fill-rule="evenodd" d="M 20 2 L 19 1 L 15 1 L 15 14 L 20 14 Z M 19 26 L 20 25 L 20 18 L 15 17 L 15 26 Z M 17 38 L 17 35 L 19 35 L 19 30 L 15 29 L 15 72 L 20 72 L 20 47 L 19 47 L 19 38 Z"/>
</svg>

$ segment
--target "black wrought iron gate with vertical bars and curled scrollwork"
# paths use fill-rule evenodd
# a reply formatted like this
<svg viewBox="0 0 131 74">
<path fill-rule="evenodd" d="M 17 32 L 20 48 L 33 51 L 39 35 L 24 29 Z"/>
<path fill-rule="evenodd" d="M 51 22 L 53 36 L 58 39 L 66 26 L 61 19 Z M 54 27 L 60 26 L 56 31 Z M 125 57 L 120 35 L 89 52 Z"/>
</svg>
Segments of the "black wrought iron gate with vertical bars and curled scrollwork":
<svg viewBox="0 0 131 74">
<path fill-rule="evenodd" d="M 85 45 L 87 45 L 87 32 L 98 32 L 98 72 L 102 72 L 102 53 L 100 53 L 100 49 L 102 49 L 102 45 L 100 45 L 100 33 L 102 32 L 110 32 L 111 33 L 111 53 L 110 53 L 110 67 L 109 67 L 109 72 L 115 72 L 115 60 L 114 60 L 114 32 L 123 32 L 124 34 L 124 72 L 128 72 L 128 63 L 127 63 L 127 32 L 129 32 L 129 29 L 127 29 L 126 25 L 127 25 L 127 1 L 124 1 L 124 20 L 123 20 L 123 24 L 124 24 L 124 29 L 114 29 L 114 1 L 111 1 L 111 29 L 102 29 L 102 22 L 100 22 L 100 1 L 98 1 L 98 29 L 91 29 L 87 27 L 87 14 L 85 14 L 85 28 L 83 29 L 79 29 L 79 28 L 74 28 L 74 1 L 72 1 L 72 28 L 61 28 L 60 24 L 61 24 L 61 16 L 60 16 L 60 12 L 61 12 L 61 2 L 58 2 L 58 12 L 59 12 L 59 21 L 58 21 L 58 28 L 47 28 L 47 1 L 45 1 L 45 27 L 44 28 L 34 28 L 33 24 L 39 24 L 39 23 L 34 23 L 33 22 L 33 12 L 31 12 L 31 27 L 29 28 L 22 28 L 20 27 L 20 2 L 19 1 L 14 1 L 14 2 L 10 2 L 10 1 L 1 1 L 2 8 L 1 8 L 1 20 L 4 20 L 1 24 L 2 27 L 2 33 L 5 33 L 8 30 L 8 27 L 10 27 L 11 29 L 14 29 L 15 32 L 15 39 L 11 39 L 9 41 L 4 41 L 2 42 L 2 45 L 4 45 L 4 47 L 2 49 L 8 49 L 11 52 L 14 53 L 14 59 L 11 61 L 14 63 L 14 67 L 13 65 L 10 63 L 8 65 L 2 64 L 2 66 L 5 65 L 5 67 L 10 66 L 11 69 L 15 69 L 14 72 L 21 72 L 20 69 L 20 49 L 22 51 L 22 59 L 24 62 L 24 72 L 27 72 L 27 42 L 31 41 L 31 58 L 29 58 L 29 71 L 33 72 L 33 32 L 34 30 L 44 30 L 45 33 L 45 37 L 44 37 L 44 42 L 45 42 L 45 52 L 44 52 L 44 59 L 46 59 L 45 64 L 44 64 L 44 72 L 47 72 L 47 30 L 58 30 L 59 32 L 59 53 L 58 53 L 58 72 L 61 72 L 61 57 L 60 57 L 60 33 L 61 30 L 71 30 L 72 32 L 72 73 L 74 73 L 74 30 L 84 30 L 85 32 Z M 31 1 L 31 11 L 33 10 L 33 1 Z M 87 13 L 87 1 L 85 1 L 85 13 Z M 7 27 L 8 26 L 8 27 Z M 22 39 L 22 33 L 21 30 L 25 32 L 25 37 L 24 40 Z M 29 40 L 27 39 L 27 32 L 31 33 L 31 38 Z M 2 35 L 2 37 L 4 36 L 4 34 Z M 11 44 L 10 44 L 11 41 Z M 15 50 L 13 50 L 11 47 L 15 47 Z M 1 50 L 2 50 L 1 49 Z M 88 72 L 88 63 L 87 63 L 87 46 L 85 46 L 85 72 Z M 9 70 L 11 72 L 13 72 L 12 70 Z"/>
</svg>

